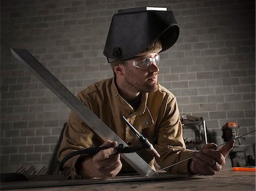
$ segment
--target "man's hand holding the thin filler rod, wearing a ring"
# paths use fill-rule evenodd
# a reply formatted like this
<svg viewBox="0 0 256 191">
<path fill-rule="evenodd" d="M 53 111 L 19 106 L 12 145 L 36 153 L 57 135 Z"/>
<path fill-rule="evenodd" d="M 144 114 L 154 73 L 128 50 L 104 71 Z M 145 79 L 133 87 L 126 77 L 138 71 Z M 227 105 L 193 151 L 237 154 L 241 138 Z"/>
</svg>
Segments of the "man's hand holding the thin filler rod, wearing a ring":
<svg viewBox="0 0 256 191">
<path fill-rule="evenodd" d="M 195 152 L 189 171 L 192 174 L 214 175 L 225 165 L 226 156 L 232 150 L 234 143 L 234 140 L 230 140 L 220 150 L 216 150 L 217 145 L 214 143 L 203 146 L 199 152 Z"/>
</svg>

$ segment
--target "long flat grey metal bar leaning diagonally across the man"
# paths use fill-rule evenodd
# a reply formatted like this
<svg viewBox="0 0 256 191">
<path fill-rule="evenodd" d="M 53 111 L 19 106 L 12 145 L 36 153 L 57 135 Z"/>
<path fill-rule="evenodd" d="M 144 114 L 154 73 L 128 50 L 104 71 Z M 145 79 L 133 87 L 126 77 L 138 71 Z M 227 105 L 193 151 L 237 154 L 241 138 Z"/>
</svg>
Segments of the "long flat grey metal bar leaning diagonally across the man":
<svg viewBox="0 0 256 191">
<path fill-rule="evenodd" d="M 110 139 L 112 141 L 117 141 L 124 146 L 128 146 L 26 49 L 11 48 L 11 53 L 15 58 L 26 65 L 27 68 L 49 88 L 49 90 L 72 109 L 72 111 L 75 112 L 104 141 Z M 158 176 L 157 173 L 153 173 L 155 171 L 138 154 L 121 154 L 121 157 L 142 176 L 147 176 L 148 174 Z"/>
</svg>

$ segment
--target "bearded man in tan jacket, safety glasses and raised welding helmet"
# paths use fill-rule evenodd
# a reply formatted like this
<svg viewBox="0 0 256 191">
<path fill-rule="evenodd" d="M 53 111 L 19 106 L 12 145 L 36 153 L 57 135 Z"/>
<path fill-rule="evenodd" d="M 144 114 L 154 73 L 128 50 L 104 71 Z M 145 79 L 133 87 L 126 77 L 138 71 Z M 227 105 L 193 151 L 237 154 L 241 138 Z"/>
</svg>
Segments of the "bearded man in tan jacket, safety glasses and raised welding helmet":
<svg viewBox="0 0 256 191">
<path fill-rule="evenodd" d="M 158 83 L 159 53 L 177 40 L 179 27 L 172 11 L 147 11 L 146 7 L 121 10 L 115 14 L 109 29 L 104 54 L 111 63 L 114 78 L 92 84 L 78 95 L 128 145 L 139 140 L 122 121 L 135 126 L 160 154 L 154 158 L 143 150 L 139 155 L 154 169 L 187 159 L 168 169 L 174 173 L 213 175 L 225 164 L 232 149 L 230 141 L 220 150 L 209 143 L 200 151 L 187 150 L 182 137 L 176 97 Z M 59 160 L 83 147 L 109 146 L 93 157 L 75 156 L 64 164 L 64 172 L 72 179 L 82 177 L 114 177 L 132 169 L 117 154 L 117 142 L 103 141 L 73 112 L 65 128 Z"/>
</svg>

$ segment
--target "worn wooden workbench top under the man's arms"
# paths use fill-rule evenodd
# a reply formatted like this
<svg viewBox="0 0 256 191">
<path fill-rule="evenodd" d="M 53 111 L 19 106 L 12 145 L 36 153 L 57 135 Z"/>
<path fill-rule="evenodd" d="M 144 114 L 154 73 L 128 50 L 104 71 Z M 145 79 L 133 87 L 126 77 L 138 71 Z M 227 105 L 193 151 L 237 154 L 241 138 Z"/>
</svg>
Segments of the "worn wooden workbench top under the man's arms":
<svg viewBox="0 0 256 191">
<path fill-rule="evenodd" d="M 53 178 L 54 179 L 54 178 Z M 129 177 L 124 181 L 118 181 L 118 179 L 109 179 L 99 181 L 90 180 L 85 181 L 85 185 L 82 185 L 82 180 L 53 180 L 57 181 L 59 185 L 63 184 L 65 186 L 50 186 L 44 183 L 43 186 L 48 186 L 44 188 L 24 188 L 24 189 L 9 189 L 9 190 L 19 190 L 19 191 L 33 191 L 33 190 L 51 190 L 51 191 L 68 191 L 68 190 L 122 190 L 122 191 L 144 191 L 144 190 L 179 190 L 179 191 L 192 191 L 192 190 L 207 190 L 207 191 L 255 191 L 255 172 L 237 172 L 231 169 L 224 169 L 213 176 L 190 176 L 190 177 L 175 177 L 170 179 L 158 179 L 158 180 L 140 180 L 136 181 L 134 179 L 129 180 Z M 117 180 L 117 181 L 115 181 Z M 69 181 L 69 182 L 68 182 Z M 68 184 L 67 184 L 68 182 Z M 10 182 L 7 182 L 10 184 Z M 56 183 L 56 182 L 55 182 Z M 20 184 L 20 182 L 12 182 L 14 184 Z M 58 185 L 52 184 L 52 185 Z M 50 187 L 49 187 L 50 186 Z"/>
</svg>

